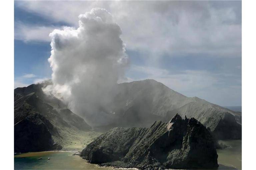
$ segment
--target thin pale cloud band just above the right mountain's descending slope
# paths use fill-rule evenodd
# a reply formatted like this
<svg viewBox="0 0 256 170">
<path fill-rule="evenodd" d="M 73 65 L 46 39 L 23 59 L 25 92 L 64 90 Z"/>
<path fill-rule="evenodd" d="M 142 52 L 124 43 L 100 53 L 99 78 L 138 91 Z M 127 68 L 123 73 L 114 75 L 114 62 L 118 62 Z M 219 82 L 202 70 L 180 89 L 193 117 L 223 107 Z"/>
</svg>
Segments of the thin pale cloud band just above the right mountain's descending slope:
<svg viewBox="0 0 256 170">
<path fill-rule="evenodd" d="M 230 85 L 221 82 L 225 86 L 220 87 L 219 74 L 204 70 L 184 70 L 180 73 L 172 73 L 166 69 L 136 65 L 132 65 L 130 69 L 138 74 L 146 74 L 146 76 L 136 80 L 154 79 L 188 97 L 197 96 L 222 106 L 230 105 L 230 101 L 233 101 L 236 105 L 241 105 L 241 85 Z"/>
</svg>

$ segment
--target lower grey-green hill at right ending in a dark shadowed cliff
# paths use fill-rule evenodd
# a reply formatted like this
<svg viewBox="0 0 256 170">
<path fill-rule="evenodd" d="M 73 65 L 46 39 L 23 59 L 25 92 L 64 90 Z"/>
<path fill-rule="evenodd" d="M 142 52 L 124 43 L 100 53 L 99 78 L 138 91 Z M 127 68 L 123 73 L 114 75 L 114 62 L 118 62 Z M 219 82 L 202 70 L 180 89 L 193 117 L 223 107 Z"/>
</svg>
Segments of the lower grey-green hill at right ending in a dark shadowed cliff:
<svg viewBox="0 0 256 170">
<path fill-rule="evenodd" d="M 188 117 L 196 118 L 208 127 L 218 140 L 242 138 L 242 125 L 239 123 L 241 117 L 238 119 L 238 116 L 234 115 L 235 112 L 228 112 L 221 109 L 220 106 L 191 102 L 179 109 L 168 112 L 167 117 L 170 118 L 175 112 L 182 113 L 181 117 L 183 118 L 186 113 Z"/>
</svg>

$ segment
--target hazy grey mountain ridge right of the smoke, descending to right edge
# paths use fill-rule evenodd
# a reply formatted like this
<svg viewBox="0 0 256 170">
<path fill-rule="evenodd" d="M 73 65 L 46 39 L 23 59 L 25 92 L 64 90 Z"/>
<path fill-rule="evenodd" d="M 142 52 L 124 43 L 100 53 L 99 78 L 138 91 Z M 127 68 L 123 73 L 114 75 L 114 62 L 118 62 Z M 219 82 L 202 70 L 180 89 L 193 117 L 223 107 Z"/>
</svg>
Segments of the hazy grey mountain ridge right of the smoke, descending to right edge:
<svg viewBox="0 0 256 170">
<path fill-rule="evenodd" d="M 237 132 L 238 135 L 234 136 L 233 139 L 241 139 L 242 114 L 240 112 L 231 111 L 198 97 L 186 97 L 152 79 L 120 83 L 118 86 L 119 93 L 116 96 L 117 100 L 114 101 L 117 108 L 114 112 L 118 115 L 116 122 L 120 123 L 115 126 L 129 127 L 125 121 L 128 119 L 135 127 L 149 127 L 150 121 L 147 120 L 151 120 L 151 118 L 152 121 L 154 119 L 168 121 L 178 113 L 182 118 L 185 116 L 196 118 L 212 131 L 215 130 L 220 121 L 224 121 L 227 127 L 230 127 L 230 124 L 233 127 L 234 124 L 235 130 L 232 133 Z M 130 112 L 131 109 L 133 112 Z M 140 118 L 139 121 L 132 119 L 135 112 L 136 117 Z M 225 117 L 226 114 L 232 115 L 236 122 L 232 122 L 232 116 Z M 212 121 L 215 122 L 212 123 Z M 215 133 L 218 133 L 216 136 L 219 139 L 227 139 L 226 134 Z"/>
</svg>

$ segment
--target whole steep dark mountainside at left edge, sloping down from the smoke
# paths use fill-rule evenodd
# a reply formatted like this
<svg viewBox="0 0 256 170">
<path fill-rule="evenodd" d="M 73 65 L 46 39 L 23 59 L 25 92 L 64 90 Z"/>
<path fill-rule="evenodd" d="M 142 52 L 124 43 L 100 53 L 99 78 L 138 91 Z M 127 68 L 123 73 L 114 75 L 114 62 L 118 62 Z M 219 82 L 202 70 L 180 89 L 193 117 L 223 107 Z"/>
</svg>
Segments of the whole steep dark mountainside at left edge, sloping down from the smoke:
<svg viewBox="0 0 256 170">
<path fill-rule="evenodd" d="M 90 130 L 57 98 L 42 91 L 44 84 L 14 90 L 14 151 L 61 149 L 68 136 Z"/>
</svg>

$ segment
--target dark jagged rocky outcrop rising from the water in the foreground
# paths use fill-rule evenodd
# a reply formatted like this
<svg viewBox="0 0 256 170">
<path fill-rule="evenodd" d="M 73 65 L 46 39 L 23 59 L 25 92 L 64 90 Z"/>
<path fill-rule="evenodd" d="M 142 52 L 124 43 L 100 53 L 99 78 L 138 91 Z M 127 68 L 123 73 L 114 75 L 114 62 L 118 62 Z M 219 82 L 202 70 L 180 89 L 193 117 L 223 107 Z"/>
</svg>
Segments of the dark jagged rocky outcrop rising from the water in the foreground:
<svg viewBox="0 0 256 170">
<path fill-rule="evenodd" d="M 218 167 L 208 129 L 178 114 L 150 128 L 112 128 L 82 150 L 80 156 L 100 166 L 138 169 Z"/>
</svg>

